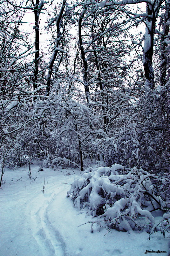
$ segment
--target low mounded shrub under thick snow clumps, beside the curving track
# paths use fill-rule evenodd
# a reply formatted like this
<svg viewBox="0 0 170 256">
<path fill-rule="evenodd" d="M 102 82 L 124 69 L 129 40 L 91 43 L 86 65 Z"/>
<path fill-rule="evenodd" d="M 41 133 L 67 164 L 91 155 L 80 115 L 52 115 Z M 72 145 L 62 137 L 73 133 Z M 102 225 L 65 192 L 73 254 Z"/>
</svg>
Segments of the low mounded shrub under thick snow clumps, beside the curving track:
<svg viewBox="0 0 170 256">
<path fill-rule="evenodd" d="M 169 178 L 115 164 L 87 169 L 72 183 L 67 196 L 79 210 L 85 208 L 93 217 L 100 215 L 93 222 L 102 227 L 149 233 L 156 227 L 152 212 L 170 210 L 169 185 Z"/>
</svg>

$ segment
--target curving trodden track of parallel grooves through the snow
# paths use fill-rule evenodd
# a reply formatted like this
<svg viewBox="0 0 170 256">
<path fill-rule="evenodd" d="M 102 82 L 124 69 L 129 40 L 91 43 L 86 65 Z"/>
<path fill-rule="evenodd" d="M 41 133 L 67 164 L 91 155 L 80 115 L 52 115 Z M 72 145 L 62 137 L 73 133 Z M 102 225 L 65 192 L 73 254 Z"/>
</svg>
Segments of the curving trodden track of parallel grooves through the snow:
<svg viewBox="0 0 170 256">
<path fill-rule="evenodd" d="M 63 189 L 58 191 L 59 194 Z M 51 202 L 57 196 L 55 192 L 47 192 L 38 195 L 28 203 L 27 212 L 30 210 L 28 222 L 32 237 L 37 242 L 37 247 L 42 256 L 65 256 L 65 242 L 60 236 L 59 231 L 55 230 L 49 219 L 48 209 Z M 44 198 L 44 201 L 42 200 Z"/>
</svg>

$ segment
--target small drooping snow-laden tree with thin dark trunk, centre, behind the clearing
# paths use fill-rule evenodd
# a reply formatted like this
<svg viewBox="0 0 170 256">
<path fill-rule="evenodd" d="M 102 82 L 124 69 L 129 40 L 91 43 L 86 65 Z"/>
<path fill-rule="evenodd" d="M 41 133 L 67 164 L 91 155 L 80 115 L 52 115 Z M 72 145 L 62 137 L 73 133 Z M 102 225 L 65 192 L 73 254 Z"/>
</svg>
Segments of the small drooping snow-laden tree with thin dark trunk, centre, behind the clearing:
<svg viewBox="0 0 170 256">
<path fill-rule="evenodd" d="M 96 155 L 93 134 L 97 118 L 89 107 L 73 100 L 63 103 L 63 111 L 64 121 L 53 132 L 56 145 L 52 165 L 56 169 L 59 165 L 83 169 L 85 161 Z"/>
</svg>

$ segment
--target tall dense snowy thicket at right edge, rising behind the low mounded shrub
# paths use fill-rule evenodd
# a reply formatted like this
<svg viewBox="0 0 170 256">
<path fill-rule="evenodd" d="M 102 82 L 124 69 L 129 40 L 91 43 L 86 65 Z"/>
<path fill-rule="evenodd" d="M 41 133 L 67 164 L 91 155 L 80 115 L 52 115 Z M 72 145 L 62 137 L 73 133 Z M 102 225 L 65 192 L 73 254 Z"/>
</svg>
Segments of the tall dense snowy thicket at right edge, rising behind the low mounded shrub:
<svg viewBox="0 0 170 256">
<path fill-rule="evenodd" d="M 124 163 L 145 170 L 167 172 L 170 165 L 170 97 L 167 90 L 148 91 L 135 112 L 123 120 L 119 130 L 112 130 L 102 144 L 106 166 Z"/>
</svg>

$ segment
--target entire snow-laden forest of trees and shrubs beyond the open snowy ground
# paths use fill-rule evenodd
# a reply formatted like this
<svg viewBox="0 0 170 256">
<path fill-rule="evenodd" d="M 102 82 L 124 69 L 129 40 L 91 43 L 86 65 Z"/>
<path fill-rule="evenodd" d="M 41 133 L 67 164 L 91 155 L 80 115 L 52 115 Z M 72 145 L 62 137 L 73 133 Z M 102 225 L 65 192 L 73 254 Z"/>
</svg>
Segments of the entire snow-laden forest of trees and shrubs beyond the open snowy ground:
<svg viewBox="0 0 170 256">
<path fill-rule="evenodd" d="M 0 0 L 0 17 L 0 194 L 37 161 L 77 172 L 65 200 L 91 232 L 169 237 L 170 0 Z"/>
</svg>

